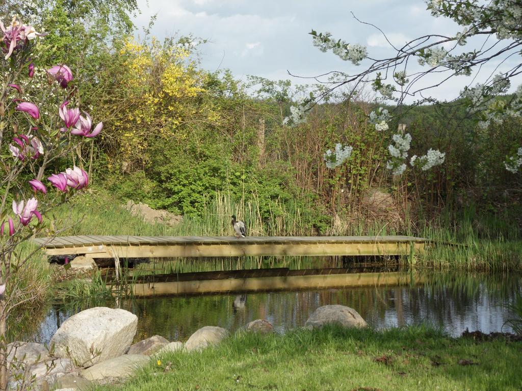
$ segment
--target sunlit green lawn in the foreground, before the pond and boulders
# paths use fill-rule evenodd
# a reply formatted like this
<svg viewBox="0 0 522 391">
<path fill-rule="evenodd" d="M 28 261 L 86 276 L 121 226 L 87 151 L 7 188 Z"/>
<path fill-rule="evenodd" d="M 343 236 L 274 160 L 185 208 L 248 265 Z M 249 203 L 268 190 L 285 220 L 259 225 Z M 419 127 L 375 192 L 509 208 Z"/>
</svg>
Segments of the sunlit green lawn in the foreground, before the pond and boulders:
<svg viewBox="0 0 522 391">
<path fill-rule="evenodd" d="M 202 353 L 151 360 L 126 383 L 97 389 L 519 390 L 521 353 L 520 342 L 476 343 L 422 326 L 239 333 Z"/>
</svg>

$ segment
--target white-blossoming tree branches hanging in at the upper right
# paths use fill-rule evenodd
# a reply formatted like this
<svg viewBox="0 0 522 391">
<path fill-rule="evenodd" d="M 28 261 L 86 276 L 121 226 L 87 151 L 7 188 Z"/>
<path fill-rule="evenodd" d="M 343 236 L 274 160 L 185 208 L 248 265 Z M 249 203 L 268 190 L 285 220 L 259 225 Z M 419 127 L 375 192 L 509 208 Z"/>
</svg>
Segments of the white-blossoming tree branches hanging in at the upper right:
<svg viewBox="0 0 522 391">
<path fill-rule="evenodd" d="M 363 60 L 370 62 L 364 70 L 354 74 L 327 74 L 330 88 L 315 100 L 321 100 L 342 85 L 350 85 L 355 90 L 369 83 L 383 99 L 395 102 L 396 107 L 407 97 L 416 100 L 417 104 L 436 103 L 432 97 L 425 97 L 430 90 L 461 75 L 474 76 L 474 82 L 480 77 L 480 68 L 493 61 L 502 65 L 495 68 L 497 74 L 493 72 L 483 82 L 468 85 L 456 99 L 464 102 L 469 112 L 479 118 L 478 125 L 482 128 L 491 123 L 502 123 L 507 117 L 522 117 L 522 85 L 514 94 L 506 96 L 511 80 L 522 72 L 519 60 L 522 3 L 519 0 L 428 0 L 426 4 L 434 17 L 452 19 L 461 30 L 451 35 L 419 36 L 401 47 L 390 43 L 395 55 L 387 58 L 371 58 L 365 46 L 337 39 L 329 32 L 312 30 L 313 44 L 322 52 L 331 52 L 354 65 L 360 65 Z M 428 75 L 436 81 L 426 85 L 425 76 Z M 296 122 L 302 120 L 298 115 L 304 113 L 310 104 L 309 100 L 300 104 L 300 108 L 293 109 Z M 370 115 L 376 130 L 387 130 L 389 119 L 388 112 L 383 109 Z M 412 156 L 408 162 L 410 135 L 401 131 L 392 137 L 387 168 L 394 174 L 404 172 L 407 163 L 428 170 L 444 162 L 444 153 L 432 149 L 423 156 Z M 522 166 L 522 149 L 507 156 L 504 165 L 510 172 L 517 173 Z"/>
</svg>

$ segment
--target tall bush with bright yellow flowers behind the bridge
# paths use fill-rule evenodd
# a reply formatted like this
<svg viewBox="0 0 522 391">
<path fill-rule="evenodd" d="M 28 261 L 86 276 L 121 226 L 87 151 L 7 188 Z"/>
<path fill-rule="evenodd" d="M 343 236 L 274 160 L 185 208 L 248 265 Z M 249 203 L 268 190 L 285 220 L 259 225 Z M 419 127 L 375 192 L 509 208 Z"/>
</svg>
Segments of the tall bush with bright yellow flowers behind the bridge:
<svg viewBox="0 0 522 391">
<path fill-rule="evenodd" d="M 129 38 L 118 48 L 114 64 L 105 68 L 114 83 L 101 98 L 105 102 L 96 105 L 111 165 L 144 166 L 152 138 L 182 140 L 184 124 L 219 120 L 211 101 L 204 99 L 206 73 L 197 69 L 191 54 L 184 45 L 156 39 L 139 43 Z"/>
</svg>

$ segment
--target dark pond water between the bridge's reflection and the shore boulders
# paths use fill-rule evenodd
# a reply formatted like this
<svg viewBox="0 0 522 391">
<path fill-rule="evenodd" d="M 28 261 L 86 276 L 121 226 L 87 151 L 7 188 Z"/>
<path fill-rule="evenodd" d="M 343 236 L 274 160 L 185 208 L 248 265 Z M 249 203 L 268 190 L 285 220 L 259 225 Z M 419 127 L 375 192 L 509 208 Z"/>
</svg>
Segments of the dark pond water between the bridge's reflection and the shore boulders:
<svg viewBox="0 0 522 391">
<path fill-rule="evenodd" d="M 266 319 L 283 333 L 303 326 L 316 308 L 326 304 L 354 308 L 376 328 L 429 323 L 453 336 L 466 328 L 484 333 L 511 331 L 505 322 L 514 314 L 505 304 L 513 302 L 517 292 L 522 294 L 522 275 L 433 271 L 404 274 L 411 278 L 399 284 L 55 303 L 45 311 L 38 329 L 28 339 L 48 343 L 69 316 L 100 305 L 135 313 L 135 340 L 159 334 L 184 341 L 203 326 L 235 331 L 254 319 Z"/>
</svg>

